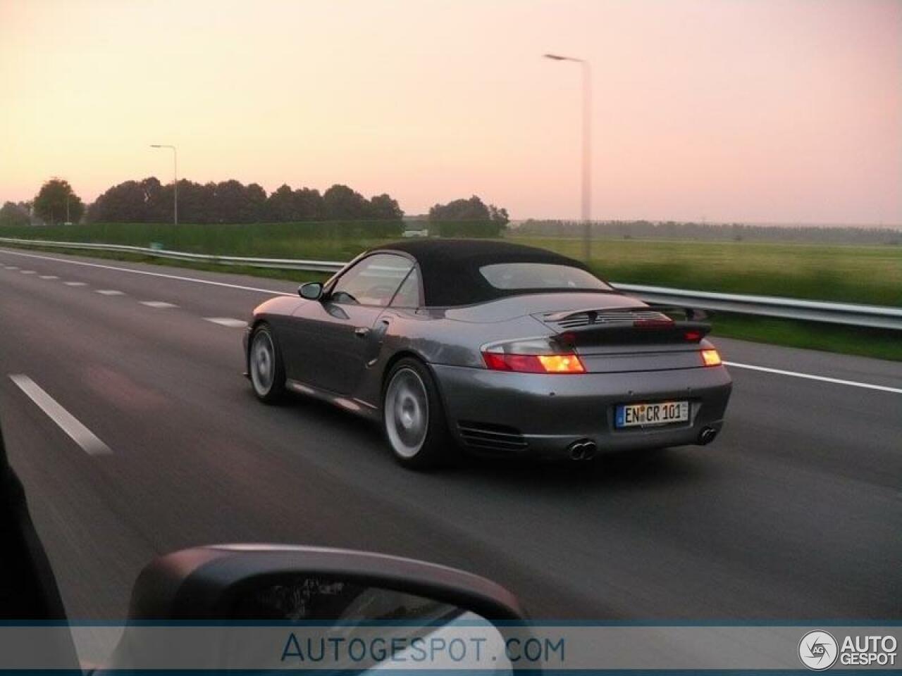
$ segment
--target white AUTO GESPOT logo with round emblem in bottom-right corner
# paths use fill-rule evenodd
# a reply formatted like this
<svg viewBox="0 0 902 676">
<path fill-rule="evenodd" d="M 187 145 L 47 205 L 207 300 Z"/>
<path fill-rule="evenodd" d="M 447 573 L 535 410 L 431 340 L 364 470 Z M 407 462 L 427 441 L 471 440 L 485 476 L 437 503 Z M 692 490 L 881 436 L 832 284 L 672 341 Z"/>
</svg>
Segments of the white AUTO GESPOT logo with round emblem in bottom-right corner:
<svg viewBox="0 0 902 676">
<path fill-rule="evenodd" d="M 822 629 L 808 632 L 798 643 L 798 658 L 812 671 L 844 666 L 894 666 L 898 642 L 895 636 L 847 635 L 842 644 Z"/>
</svg>

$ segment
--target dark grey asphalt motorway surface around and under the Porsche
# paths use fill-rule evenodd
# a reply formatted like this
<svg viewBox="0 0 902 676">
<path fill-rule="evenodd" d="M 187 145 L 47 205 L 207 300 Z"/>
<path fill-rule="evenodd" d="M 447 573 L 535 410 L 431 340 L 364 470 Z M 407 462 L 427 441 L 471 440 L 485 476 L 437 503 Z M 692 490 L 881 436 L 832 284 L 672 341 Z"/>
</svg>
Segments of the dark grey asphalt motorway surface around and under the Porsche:
<svg viewBox="0 0 902 676">
<path fill-rule="evenodd" d="M 544 619 L 900 617 L 902 364 L 722 340 L 732 362 L 889 389 L 734 367 L 711 446 L 415 474 L 352 416 L 253 398 L 241 329 L 207 320 L 267 289 L 294 285 L 0 250 L 0 419 L 71 617 L 124 617 L 155 554 L 239 541 L 446 563 Z"/>
</svg>

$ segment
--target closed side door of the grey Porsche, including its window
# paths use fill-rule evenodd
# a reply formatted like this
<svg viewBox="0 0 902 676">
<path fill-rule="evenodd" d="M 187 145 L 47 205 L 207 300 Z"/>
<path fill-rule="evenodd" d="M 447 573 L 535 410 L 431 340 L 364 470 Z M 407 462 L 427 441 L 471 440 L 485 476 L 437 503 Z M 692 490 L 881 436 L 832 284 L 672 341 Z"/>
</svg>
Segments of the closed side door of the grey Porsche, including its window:
<svg viewBox="0 0 902 676">
<path fill-rule="evenodd" d="M 299 354 L 289 378 L 354 394 L 366 364 L 379 354 L 389 321 L 382 314 L 412 267 L 403 256 L 374 253 L 347 269 L 322 301 L 299 308 Z"/>
</svg>

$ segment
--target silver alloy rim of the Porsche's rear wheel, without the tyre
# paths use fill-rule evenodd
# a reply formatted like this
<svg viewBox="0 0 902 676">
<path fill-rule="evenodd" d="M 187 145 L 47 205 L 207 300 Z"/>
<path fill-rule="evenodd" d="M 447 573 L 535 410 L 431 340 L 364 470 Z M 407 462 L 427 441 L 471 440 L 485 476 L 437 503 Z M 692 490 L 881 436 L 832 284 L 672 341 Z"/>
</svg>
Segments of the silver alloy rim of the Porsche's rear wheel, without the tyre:
<svg viewBox="0 0 902 676">
<path fill-rule="evenodd" d="M 417 371 L 403 367 L 391 378 L 385 391 L 382 418 L 394 452 L 402 458 L 415 456 L 429 431 L 426 383 Z"/>
</svg>

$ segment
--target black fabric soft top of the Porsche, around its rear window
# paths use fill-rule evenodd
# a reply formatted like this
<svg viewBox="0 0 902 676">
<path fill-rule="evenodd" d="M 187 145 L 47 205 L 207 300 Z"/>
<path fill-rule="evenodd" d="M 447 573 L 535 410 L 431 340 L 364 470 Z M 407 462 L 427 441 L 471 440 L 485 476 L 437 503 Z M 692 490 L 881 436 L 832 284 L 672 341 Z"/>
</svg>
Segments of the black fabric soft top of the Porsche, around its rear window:
<svg viewBox="0 0 902 676">
<path fill-rule="evenodd" d="M 492 287 L 479 271 L 483 265 L 556 263 L 587 269 L 578 260 L 553 251 L 492 240 L 404 240 L 378 249 L 403 251 L 417 260 L 425 302 L 430 307 L 467 306 L 523 293 L 517 289 Z M 549 290 L 553 289 L 542 289 L 543 292 Z"/>
</svg>

